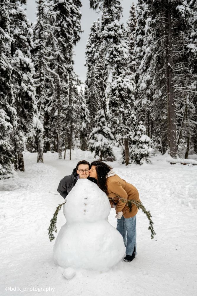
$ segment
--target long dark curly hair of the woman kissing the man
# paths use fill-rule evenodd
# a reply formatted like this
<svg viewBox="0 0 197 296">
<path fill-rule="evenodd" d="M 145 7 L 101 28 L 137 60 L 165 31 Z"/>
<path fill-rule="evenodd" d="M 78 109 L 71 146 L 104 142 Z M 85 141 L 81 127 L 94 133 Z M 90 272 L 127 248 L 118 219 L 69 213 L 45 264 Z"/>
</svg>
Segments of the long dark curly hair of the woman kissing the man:
<svg viewBox="0 0 197 296">
<path fill-rule="evenodd" d="M 99 188 L 107 194 L 107 176 L 112 167 L 102 161 L 93 161 L 90 165 L 95 165 L 97 172 L 97 184 Z"/>
</svg>

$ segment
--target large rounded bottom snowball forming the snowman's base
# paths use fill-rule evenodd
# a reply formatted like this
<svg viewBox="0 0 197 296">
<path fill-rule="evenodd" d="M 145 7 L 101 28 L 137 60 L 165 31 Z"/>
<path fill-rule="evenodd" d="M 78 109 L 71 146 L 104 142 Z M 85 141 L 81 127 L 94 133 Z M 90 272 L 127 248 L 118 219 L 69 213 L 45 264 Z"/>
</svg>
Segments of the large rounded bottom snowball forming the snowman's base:
<svg viewBox="0 0 197 296">
<path fill-rule="evenodd" d="M 64 268 L 105 271 L 125 254 L 121 234 L 108 221 L 68 222 L 53 247 L 54 261 Z"/>
</svg>

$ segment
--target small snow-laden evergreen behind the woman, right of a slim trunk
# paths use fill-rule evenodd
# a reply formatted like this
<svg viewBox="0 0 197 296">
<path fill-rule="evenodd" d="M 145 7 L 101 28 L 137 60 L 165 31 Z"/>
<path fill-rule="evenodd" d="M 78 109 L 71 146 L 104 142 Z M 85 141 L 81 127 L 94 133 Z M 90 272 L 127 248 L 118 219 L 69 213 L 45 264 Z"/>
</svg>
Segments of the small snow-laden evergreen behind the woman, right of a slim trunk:
<svg viewBox="0 0 197 296">
<path fill-rule="evenodd" d="M 131 151 L 132 162 L 139 165 L 149 163 L 149 157 L 152 155 L 150 144 L 151 139 L 146 136 L 146 128 L 143 126 L 142 121 L 140 121 L 133 137 L 133 147 Z"/>
</svg>

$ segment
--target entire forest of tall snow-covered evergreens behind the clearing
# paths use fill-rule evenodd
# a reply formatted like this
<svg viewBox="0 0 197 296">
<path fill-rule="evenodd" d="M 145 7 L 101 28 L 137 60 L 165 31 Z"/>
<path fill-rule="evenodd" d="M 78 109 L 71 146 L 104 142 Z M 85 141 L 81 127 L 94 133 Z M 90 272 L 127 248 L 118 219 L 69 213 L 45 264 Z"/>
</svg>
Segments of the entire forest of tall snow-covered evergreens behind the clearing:
<svg viewBox="0 0 197 296">
<path fill-rule="evenodd" d="M 75 147 L 113 161 L 149 163 L 197 154 L 196 0 L 139 0 L 127 25 L 119 0 L 90 0 L 101 11 L 86 45 L 85 85 L 73 70 L 82 33 L 80 0 L 1 0 L 0 176 L 25 170 L 23 151 Z"/>
</svg>

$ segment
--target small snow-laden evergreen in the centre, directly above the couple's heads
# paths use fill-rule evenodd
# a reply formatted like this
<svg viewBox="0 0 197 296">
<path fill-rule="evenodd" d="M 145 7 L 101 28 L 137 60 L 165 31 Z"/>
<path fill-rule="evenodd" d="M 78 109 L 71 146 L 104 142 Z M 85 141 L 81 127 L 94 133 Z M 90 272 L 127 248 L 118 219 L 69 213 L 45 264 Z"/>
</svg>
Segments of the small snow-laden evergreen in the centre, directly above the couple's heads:
<svg viewBox="0 0 197 296">
<path fill-rule="evenodd" d="M 112 144 L 114 136 L 108 128 L 103 110 L 99 110 L 96 115 L 96 127 L 90 133 L 89 150 L 95 152 L 95 157 L 99 156 L 100 161 L 113 161 L 114 155 Z"/>
</svg>

